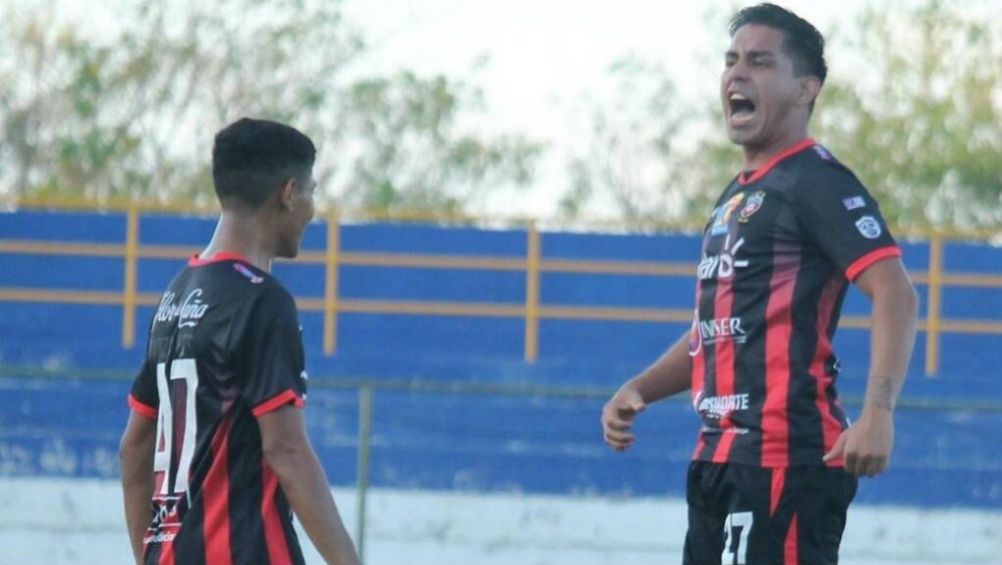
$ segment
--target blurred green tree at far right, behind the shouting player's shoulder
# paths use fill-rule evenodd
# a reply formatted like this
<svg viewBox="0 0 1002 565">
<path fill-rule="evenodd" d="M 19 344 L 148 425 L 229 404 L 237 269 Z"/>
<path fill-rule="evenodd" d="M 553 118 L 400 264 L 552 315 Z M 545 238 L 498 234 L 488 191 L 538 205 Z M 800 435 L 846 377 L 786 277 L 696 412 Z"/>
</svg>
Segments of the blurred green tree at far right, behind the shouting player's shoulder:
<svg viewBox="0 0 1002 565">
<path fill-rule="evenodd" d="M 892 221 L 1002 227 L 1002 28 L 939 0 L 870 9 L 845 43 L 816 128 Z"/>
</svg>

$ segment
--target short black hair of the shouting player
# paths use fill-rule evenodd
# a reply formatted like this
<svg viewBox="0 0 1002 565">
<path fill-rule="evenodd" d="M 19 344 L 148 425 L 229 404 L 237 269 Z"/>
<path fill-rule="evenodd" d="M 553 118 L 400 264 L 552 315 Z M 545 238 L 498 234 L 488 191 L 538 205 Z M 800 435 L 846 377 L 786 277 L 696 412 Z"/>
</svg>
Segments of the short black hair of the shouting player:
<svg viewBox="0 0 1002 565">
<path fill-rule="evenodd" d="M 825 77 L 828 76 L 825 37 L 811 22 L 776 4 L 759 4 L 734 14 L 728 27 L 730 37 L 747 24 L 765 25 L 782 31 L 783 47 L 794 61 L 797 76 L 812 74 L 822 83 L 825 82 Z"/>
</svg>

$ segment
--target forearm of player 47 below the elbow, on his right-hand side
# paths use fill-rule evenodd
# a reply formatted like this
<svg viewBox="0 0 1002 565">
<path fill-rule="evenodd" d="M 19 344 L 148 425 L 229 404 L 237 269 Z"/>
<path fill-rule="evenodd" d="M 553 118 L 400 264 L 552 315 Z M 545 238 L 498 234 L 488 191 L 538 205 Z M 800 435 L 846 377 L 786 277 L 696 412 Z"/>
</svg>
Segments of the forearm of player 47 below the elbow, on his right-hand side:
<svg viewBox="0 0 1002 565">
<path fill-rule="evenodd" d="M 332 565 L 360 564 L 313 449 L 309 445 L 291 446 L 267 457 L 293 511 L 324 559 Z"/>
</svg>

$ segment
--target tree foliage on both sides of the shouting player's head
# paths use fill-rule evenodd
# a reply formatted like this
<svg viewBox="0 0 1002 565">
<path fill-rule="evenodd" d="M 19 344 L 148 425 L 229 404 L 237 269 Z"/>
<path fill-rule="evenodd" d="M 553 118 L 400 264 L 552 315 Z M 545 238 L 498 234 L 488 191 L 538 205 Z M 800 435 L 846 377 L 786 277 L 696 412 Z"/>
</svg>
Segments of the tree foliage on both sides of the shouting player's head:
<svg viewBox="0 0 1002 565">
<path fill-rule="evenodd" d="M 938 0 L 871 7 L 830 34 L 827 52 L 834 71 L 812 134 L 860 176 L 888 219 L 915 229 L 1002 227 L 1002 27 Z M 645 76 L 671 91 L 670 76 Z M 642 98 L 635 76 L 619 79 L 632 99 Z M 624 218 L 653 212 L 703 221 L 738 170 L 740 151 L 724 134 L 715 98 L 681 110 L 670 98 L 641 108 L 645 115 L 596 112 L 590 152 L 573 162 L 566 197 L 613 194 Z M 679 115 L 703 127 L 680 129 Z M 692 131 L 696 141 L 679 150 L 680 132 Z M 649 159 L 660 160 L 652 180 L 636 174 Z"/>
</svg>

